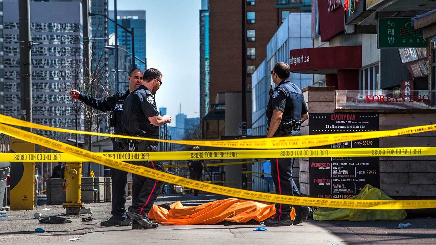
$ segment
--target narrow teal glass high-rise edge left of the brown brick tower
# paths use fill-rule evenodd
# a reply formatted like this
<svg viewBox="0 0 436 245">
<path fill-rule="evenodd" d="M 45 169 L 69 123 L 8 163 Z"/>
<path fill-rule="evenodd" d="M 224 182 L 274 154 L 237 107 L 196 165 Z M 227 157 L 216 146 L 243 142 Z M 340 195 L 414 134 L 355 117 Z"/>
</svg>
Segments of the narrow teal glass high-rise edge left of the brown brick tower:
<svg viewBox="0 0 436 245">
<path fill-rule="evenodd" d="M 209 0 L 201 0 L 200 10 L 200 118 L 209 110 Z"/>
</svg>

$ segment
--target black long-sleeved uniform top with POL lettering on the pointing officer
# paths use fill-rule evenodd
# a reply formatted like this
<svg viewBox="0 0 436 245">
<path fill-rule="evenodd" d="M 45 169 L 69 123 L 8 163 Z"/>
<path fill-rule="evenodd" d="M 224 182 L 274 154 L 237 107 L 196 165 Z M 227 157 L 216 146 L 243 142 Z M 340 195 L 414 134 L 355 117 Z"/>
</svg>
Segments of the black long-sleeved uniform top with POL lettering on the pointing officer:
<svg viewBox="0 0 436 245">
<path fill-rule="evenodd" d="M 83 93 L 79 94 L 79 100 L 84 102 L 86 105 L 91 106 L 102 112 L 114 112 L 115 116 L 115 125 L 111 125 L 114 127 L 113 131 L 115 134 L 123 133 L 121 130 L 121 112 L 123 112 L 123 103 L 126 99 L 127 95 L 129 95 L 129 90 L 127 89 L 124 92 L 116 92 L 114 95 L 106 98 L 106 99 L 95 99 L 89 95 L 85 95 Z"/>
</svg>

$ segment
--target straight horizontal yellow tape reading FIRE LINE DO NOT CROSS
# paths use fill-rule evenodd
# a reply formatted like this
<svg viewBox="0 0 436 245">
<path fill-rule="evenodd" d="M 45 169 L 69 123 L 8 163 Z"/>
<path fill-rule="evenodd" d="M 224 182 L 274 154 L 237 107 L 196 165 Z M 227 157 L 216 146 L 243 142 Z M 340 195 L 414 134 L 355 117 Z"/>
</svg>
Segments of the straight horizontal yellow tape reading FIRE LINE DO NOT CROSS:
<svg viewBox="0 0 436 245">
<path fill-rule="evenodd" d="M 49 139 L 51 140 L 51 139 Z M 54 141 L 54 140 L 53 140 Z M 58 142 L 58 141 L 54 141 Z M 53 148 L 53 147 L 52 147 Z M 389 147 L 352 149 L 287 149 L 287 150 L 207 150 L 207 151 L 163 151 L 163 152 L 105 152 L 93 153 L 121 161 L 157 160 L 204 160 L 204 159 L 251 159 L 251 158 L 290 158 L 290 157 L 406 157 L 436 156 L 436 147 Z M 1 153 L 6 162 L 80 162 L 85 157 L 69 153 Z M 236 162 L 232 164 L 252 163 Z M 225 163 L 207 166 L 225 165 Z M 181 165 L 185 166 L 185 165 Z M 170 167 L 168 165 L 167 167 Z"/>
</svg>

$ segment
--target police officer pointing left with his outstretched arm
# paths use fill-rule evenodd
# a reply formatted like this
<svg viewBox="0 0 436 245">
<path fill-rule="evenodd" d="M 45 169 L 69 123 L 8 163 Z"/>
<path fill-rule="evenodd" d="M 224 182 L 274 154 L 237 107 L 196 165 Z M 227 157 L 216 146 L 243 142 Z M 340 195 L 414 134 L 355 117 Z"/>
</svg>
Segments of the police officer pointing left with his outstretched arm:
<svg viewBox="0 0 436 245">
<path fill-rule="evenodd" d="M 70 90 L 69 95 L 92 106 L 102 112 L 110 111 L 110 126 L 114 127 L 115 134 L 122 134 L 121 130 L 121 112 L 123 112 L 123 103 L 127 95 L 136 88 L 139 88 L 143 82 L 143 73 L 140 69 L 132 69 L 129 73 L 129 89 L 123 92 L 116 92 L 106 99 L 95 99 L 85 95 L 77 90 Z M 113 152 L 123 152 L 124 147 L 118 139 L 112 138 Z M 126 215 L 126 196 L 127 196 L 127 172 L 115 168 L 111 169 L 112 177 L 112 217 L 107 221 L 100 223 L 102 226 L 132 225 L 132 219 Z"/>
</svg>

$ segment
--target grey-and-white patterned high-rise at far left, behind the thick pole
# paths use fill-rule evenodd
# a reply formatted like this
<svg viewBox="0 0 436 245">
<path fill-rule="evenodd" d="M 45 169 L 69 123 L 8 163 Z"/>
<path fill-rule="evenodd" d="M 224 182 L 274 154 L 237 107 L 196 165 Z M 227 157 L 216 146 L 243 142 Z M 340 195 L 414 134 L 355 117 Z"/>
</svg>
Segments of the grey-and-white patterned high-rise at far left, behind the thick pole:
<svg viewBox="0 0 436 245">
<path fill-rule="evenodd" d="M 1 2 L 1 1 L 0 1 Z M 31 2 L 33 122 L 75 129 L 75 114 L 64 87 L 74 59 L 82 59 L 82 6 L 79 2 Z M 47 14 L 50 13 L 50 14 Z M 4 95 L 2 112 L 19 118 L 20 54 L 18 1 L 3 1 Z M 77 54 L 74 58 L 72 55 Z M 1 71 L 0 71 L 1 72 Z M 83 125 L 82 117 L 79 125 Z M 79 126 L 79 130 L 83 127 Z M 46 136 L 59 133 L 43 131 Z"/>
</svg>

